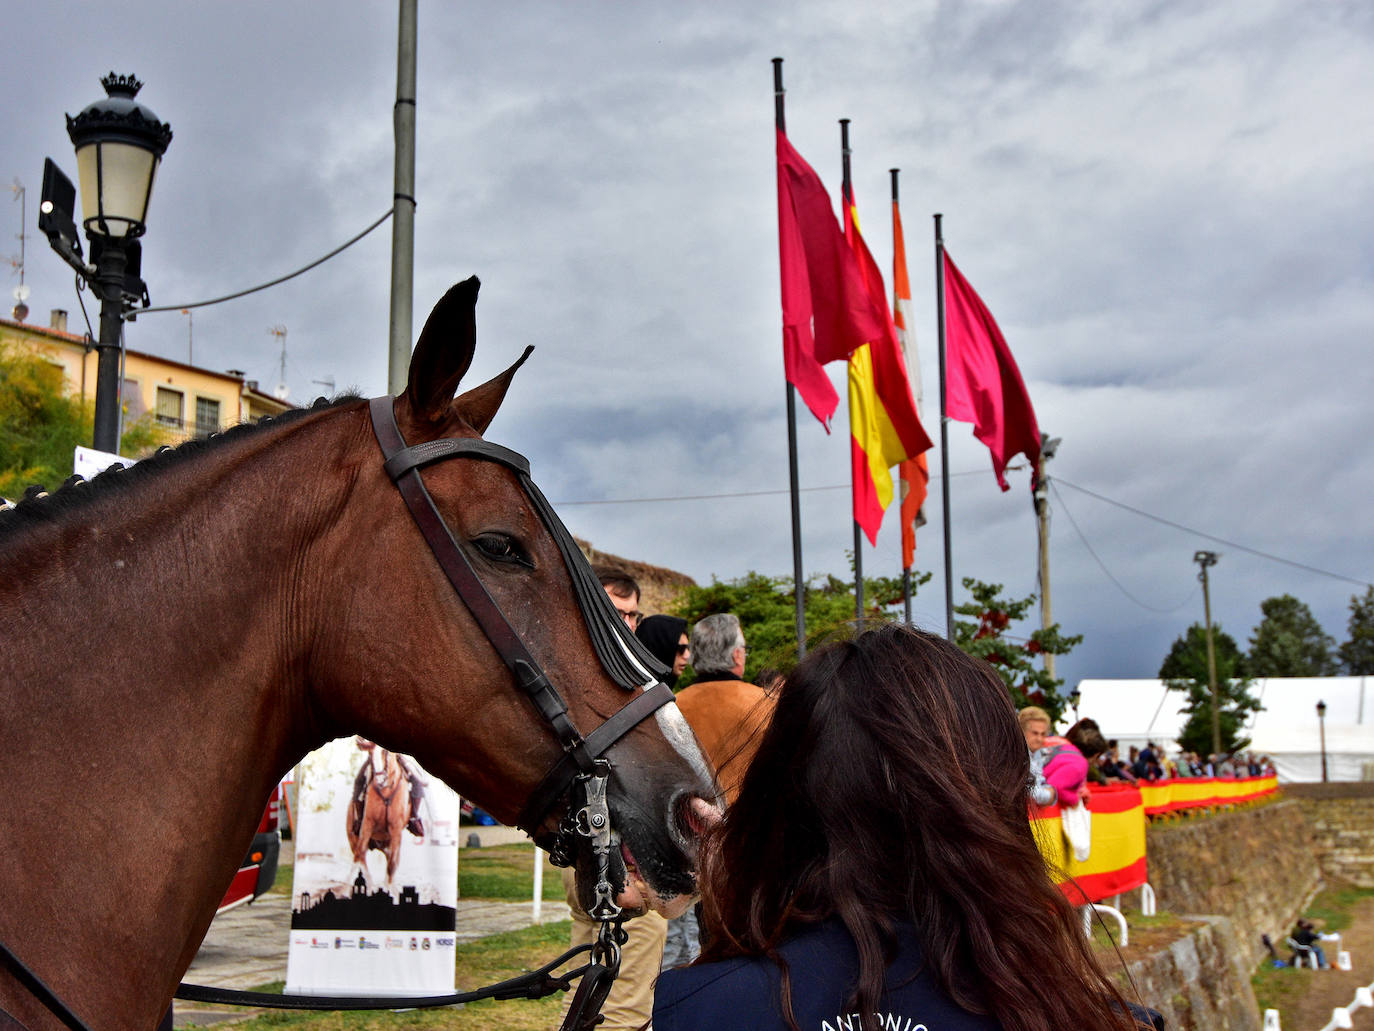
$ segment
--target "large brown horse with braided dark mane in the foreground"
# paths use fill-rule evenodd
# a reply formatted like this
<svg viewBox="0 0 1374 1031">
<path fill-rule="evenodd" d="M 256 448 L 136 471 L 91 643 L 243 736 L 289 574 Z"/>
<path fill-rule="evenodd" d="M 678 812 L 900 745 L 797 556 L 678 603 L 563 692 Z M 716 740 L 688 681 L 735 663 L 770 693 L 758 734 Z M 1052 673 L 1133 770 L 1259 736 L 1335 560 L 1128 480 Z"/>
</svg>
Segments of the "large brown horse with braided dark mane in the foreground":
<svg viewBox="0 0 1374 1031">
<path fill-rule="evenodd" d="M 572 729 L 662 697 L 653 660 L 635 667 L 646 690 L 614 672 L 628 634 L 603 591 L 585 601 L 595 579 L 541 495 L 481 461 L 519 363 L 455 399 L 475 300 L 470 279 L 438 302 L 394 401 L 317 404 L 0 513 L 0 943 L 89 1027 L 157 1024 L 272 786 L 312 748 L 363 734 L 548 836 L 566 795 L 526 803 Z M 458 445 L 423 485 L 528 661 L 426 547 L 378 412 L 412 452 Z M 653 716 L 605 752 L 609 881 L 628 909 L 671 911 L 712 788 L 676 705 Z M 592 847 L 573 858 L 591 899 Z M 4 1010 L 59 1027 L 0 966 Z"/>
</svg>

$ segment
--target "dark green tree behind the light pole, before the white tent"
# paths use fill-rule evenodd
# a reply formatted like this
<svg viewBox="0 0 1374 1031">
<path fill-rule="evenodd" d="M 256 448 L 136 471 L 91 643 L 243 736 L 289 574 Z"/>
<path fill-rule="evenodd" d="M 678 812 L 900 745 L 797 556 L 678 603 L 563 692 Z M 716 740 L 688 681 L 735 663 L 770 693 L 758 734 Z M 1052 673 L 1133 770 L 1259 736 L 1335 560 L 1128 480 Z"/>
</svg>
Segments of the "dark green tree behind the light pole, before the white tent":
<svg viewBox="0 0 1374 1031">
<path fill-rule="evenodd" d="M 1250 678 L 1245 672 L 1245 656 L 1235 638 L 1221 631 L 1220 624 L 1212 625 L 1212 646 L 1216 656 L 1216 689 L 1219 723 L 1221 729 L 1221 751 L 1234 752 L 1250 744 L 1241 737 L 1252 712 L 1260 709 L 1260 702 L 1250 697 Z M 1189 627 L 1187 634 L 1178 638 L 1160 665 L 1160 679 L 1171 690 L 1187 696 L 1180 712 L 1189 713 L 1179 733 L 1179 746 L 1198 755 L 1212 752 L 1212 687 L 1206 668 L 1206 628 L 1201 623 Z"/>
</svg>

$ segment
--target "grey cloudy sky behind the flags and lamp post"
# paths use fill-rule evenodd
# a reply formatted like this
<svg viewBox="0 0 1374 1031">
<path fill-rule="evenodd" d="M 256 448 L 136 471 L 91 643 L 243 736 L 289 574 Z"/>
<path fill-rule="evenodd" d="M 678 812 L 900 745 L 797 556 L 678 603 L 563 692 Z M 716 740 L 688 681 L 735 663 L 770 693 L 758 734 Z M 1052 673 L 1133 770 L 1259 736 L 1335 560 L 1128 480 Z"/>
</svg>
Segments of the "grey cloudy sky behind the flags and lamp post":
<svg viewBox="0 0 1374 1031">
<path fill-rule="evenodd" d="M 66 308 L 81 322 L 71 274 L 36 234 L 37 195 L 44 157 L 74 175 L 63 114 L 100 96 L 111 69 L 143 78 L 140 100 L 174 132 L 144 241 L 154 304 L 282 275 L 382 214 L 396 14 L 11 5 L 0 179 L 29 188 L 30 320 Z M 1242 646 L 1260 601 L 1282 592 L 1344 638 L 1351 594 L 1374 580 L 1374 7 L 426 3 L 419 36 L 415 333 L 477 274 L 471 381 L 536 345 L 489 436 L 529 455 L 574 533 L 703 583 L 790 575 L 782 56 L 789 136 L 833 195 L 837 120 L 852 120 L 856 198 L 885 269 L 888 169 L 901 169 L 932 436 L 943 212 L 1041 429 L 1063 440 L 1054 614 L 1085 638 L 1061 660 L 1069 683 L 1157 672 L 1202 617 L 1198 548 L 1221 553 L 1212 612 Z M 18 202 L 0 225 L 0 253 L 18 256 Z M 389 267 L 383 225 L 286 286 L 198 309 L 194 326 L 147 315 L 129 345 L 181 360 L 190 346 L 196 364 L 271 389 L 269 329 L 284 326 L 293 399 L 328 382 L 381 393 Z M 801 418 L 805 569 L 845 573 L 844 410 L 829 437 Z M 1003 495 L 971 428 L 949 437 L 955 579 L 1035 591 L 1028 473 Z M 915 610 L 943 630 L 932 502 L 916 564 L 934 577 Z M 894 517 L 863 561 L 899 573 Z"/>
</svg>

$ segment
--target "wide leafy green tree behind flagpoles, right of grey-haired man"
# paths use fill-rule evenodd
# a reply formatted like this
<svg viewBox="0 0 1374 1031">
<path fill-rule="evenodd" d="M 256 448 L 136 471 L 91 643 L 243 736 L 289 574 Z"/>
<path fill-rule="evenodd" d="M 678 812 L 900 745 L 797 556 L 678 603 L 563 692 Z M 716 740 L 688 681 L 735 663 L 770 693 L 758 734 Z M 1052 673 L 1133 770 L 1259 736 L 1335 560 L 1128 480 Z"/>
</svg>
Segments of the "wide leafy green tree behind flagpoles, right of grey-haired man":
<svg viewBox="0 0 1374 1031">
<path fill-rule="evenodd" d="M 912 573 L 912 594 L 930 579 L 930 573 Z M 901 605 L 901 580 L 890 576 L 864 577 L 864 620 L 897 619 Z M 797 664 L 797 614 L 791 577 L 764 576 L 750 572 L 736 580 L 713 580 L 706 587 L 688 587 L 679 597 L 673 612 L 688 623 L 706 616 L 732 612 L 739 617 L 749 641 L 745 679 L 764 667 L 783 672 Z M 837 576 L 813 576 L 807 583 L 807 647 L 815 647 L 841 628 L 853 625 L 855 590 L 852 581 Z M 691 683 L 691 667 L 677 682 Z"/>
</svg>

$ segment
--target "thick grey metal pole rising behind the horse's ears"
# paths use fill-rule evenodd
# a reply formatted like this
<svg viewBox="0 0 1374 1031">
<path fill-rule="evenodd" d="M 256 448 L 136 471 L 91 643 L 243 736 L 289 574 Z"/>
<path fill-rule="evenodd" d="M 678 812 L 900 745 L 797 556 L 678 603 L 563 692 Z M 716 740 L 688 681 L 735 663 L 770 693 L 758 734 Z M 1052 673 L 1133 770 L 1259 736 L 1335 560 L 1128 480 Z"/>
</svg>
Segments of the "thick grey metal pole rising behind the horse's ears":
<svg viewBox="0 0 1374 1031">
<path fill-rule="evenodd" d="M 405 389 L 415 293 L 415 49 L 418 0 L 400 0 L 396 47 L 396 177 L 392 214 L 392 322 L 386 389 Z"/>
</svg>

